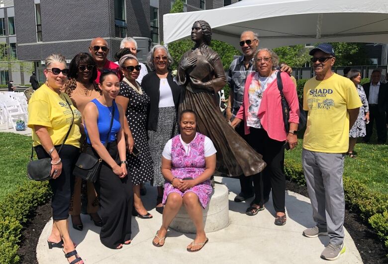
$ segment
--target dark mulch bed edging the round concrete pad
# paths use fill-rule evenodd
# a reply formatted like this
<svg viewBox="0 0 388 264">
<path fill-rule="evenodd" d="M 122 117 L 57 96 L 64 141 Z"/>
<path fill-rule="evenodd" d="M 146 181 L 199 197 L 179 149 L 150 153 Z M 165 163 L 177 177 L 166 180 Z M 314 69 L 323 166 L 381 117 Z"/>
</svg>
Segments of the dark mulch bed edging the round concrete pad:
<svg viewBox="0 0 388 264">
<path fill-rule="evenodd" d="M 300 186 L 294 182 L 287 181 L 286 189 L 308 197 L 306 186 Z M 50 203 L 38 207 L 36 214 L 31 216 L 31 221 L 22 232 L 22 243 L 18 251 L 22 263 L 38 263 L 36 259 L 36 245 L 38 244 L 38 239 L 44 226 L 50 218 Z M 370 227 L 362 223 L 360 217 L 356 213 L 353 213 L 348 209 L 345 210 L 344 226 L 352 236 L 364 263 L 388 263 L 386 257 L 388 249 L 385 248 L 383 242 L 379 240 L 376 233 L 374 233 Z"/>
</svg>

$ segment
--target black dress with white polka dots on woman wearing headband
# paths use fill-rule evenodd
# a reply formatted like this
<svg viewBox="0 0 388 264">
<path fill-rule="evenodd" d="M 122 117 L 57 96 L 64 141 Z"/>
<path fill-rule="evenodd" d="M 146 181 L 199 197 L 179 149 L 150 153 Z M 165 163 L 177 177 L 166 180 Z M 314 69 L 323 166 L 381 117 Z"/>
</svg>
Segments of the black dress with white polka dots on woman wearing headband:
<svg viewBox="0 0 388 264">
<path fill-rule="evenodd" d="M 146 130 L 150 98 L 144 91 L 143 94 L 139 94 L 125 82 L 120 83 L 118 95 L 129 99 L 125 115 L 140 154 L 135 157 L 127 152 L 128 176 L 131 177 L 132 184 L 138 185 L 151 180 L 154 174 Z"/>
</svg>

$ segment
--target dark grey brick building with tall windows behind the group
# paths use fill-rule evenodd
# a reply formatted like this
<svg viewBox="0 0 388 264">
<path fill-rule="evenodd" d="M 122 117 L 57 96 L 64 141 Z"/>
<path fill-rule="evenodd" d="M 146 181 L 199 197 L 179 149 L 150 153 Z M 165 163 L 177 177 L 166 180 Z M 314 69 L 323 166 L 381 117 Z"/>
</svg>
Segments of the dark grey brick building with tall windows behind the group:
<svg viewBox="0 0 388 264">
<path fill-rule="evenodd" d="M 185 11 L 211 9 L 238 0 L 183 0 Z M 106 39 L 108 59 L 123 37 L 139 37 L 138 57 L 145 60 L 150 47 L 163 40 L 163 15 L 174 0 L 16 0 L 17 56 L 33 61 L 43 80 L 44 58 L 61 53 L 70 60 L 88 52 L 95 37 Z"/>
</svg>

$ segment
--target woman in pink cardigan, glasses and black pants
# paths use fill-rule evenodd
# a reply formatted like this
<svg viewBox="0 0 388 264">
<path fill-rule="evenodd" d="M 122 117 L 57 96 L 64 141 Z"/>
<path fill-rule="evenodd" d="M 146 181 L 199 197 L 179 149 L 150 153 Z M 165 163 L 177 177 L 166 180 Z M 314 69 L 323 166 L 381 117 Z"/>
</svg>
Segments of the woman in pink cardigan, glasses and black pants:
<svg viewBox="0 0 388 264">
<path fill-rule="evenodd" d="M 244 100 L 231 125 L 236 127 L 244 120 L 248 143 L 267 163 L 261 174 L 254 175 L 255 198 L 246 214 L 253 216 L 264 210 L 272 189 L 276 211 L 275 225 L 286 224 L 285 189 L 283 174 L 284 148 L 297 145 L 299 103 L 296 88 L 287 73 L 281 73 L 283 94 L 290 106 L 290 131 L 286 131 L 280 91 L 277 85 L 279 57 L 269 49 L 259 49 L 255 54 L 256 72 L 245 82 Z"/>
</svg>

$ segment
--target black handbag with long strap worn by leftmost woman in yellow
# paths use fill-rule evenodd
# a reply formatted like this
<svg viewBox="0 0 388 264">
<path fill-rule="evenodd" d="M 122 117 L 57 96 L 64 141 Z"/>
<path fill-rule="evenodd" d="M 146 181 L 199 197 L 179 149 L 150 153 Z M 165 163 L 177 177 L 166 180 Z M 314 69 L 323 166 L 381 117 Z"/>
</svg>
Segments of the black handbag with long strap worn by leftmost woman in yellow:
<svg viewBox="0 0 388 264">
<path fill-rule="evenodd" d="M 65 97 L 65 100 L 66 100 L 67 104 L 69 105 L 70 110 L 73 113 L 73 109 L 72 109 L 70 103 L 68 102 L 68 100 L 66 99 L 66 97 Z M 69 130 L 67 131 L 65 139 L 63 140 L 63 143 L 58 150 L 58 155 L 61 153 L 63 145 L 65 144 L 65 142 L 70 134 L 70 130 L 72 129 L 73 122 L 74 122 L 74 113 L 73 113 L 73 120 L 72 120 L 72 123 L 70 124 Z M 52 176 L 51 175 L 51 158 L 44 158 L 44 159 L 34 161 L 33 157 L 34 157 L 34 147 L 32 147 L 30 162 L 27 164 L 27 177 L 29 179 L 37 180 L 37 181 L 51 179 L 51 176 Z"/>
</svg>

